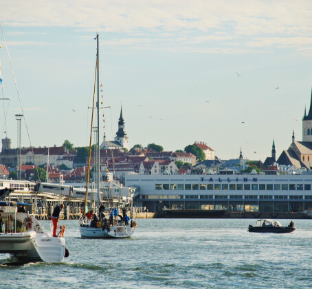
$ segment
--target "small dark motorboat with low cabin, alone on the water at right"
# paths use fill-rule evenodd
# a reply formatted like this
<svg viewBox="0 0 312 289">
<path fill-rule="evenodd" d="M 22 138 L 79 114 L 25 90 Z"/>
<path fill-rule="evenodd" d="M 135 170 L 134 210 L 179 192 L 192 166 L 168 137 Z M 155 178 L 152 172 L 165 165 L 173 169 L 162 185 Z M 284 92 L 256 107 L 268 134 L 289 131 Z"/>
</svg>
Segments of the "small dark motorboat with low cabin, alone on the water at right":
<svg viewBox="0 0 312 289">
<path fill-rule="evenodd" d="M 293 227 L 293 222 L 285 227 L 280 224 L 278 221 L 270 220 L 270 219 L 260 219 L 257 220 L 256 225 L 252 226 L 249 224 L 248 231 L 255 233 L 291 233 L 295 231 L 297 228 Z"/>
</svg>

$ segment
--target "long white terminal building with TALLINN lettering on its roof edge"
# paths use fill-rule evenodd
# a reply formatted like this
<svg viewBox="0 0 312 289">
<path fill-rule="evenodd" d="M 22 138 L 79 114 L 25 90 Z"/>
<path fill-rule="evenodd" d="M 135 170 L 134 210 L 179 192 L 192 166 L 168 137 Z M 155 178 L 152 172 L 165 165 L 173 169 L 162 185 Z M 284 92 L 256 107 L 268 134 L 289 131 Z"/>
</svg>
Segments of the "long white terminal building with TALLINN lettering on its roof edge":
<svg viewBox="0 0 312 289">
<path fill-rule="evenodd" d="M 227 209 L 298 212 L 312 210 L 312 174 L 189 174 L 126 176 L 137 187 L 135 203 L 148 211 Z M 140 193 L 139 193 L 140 192 Z"/>
</svg>

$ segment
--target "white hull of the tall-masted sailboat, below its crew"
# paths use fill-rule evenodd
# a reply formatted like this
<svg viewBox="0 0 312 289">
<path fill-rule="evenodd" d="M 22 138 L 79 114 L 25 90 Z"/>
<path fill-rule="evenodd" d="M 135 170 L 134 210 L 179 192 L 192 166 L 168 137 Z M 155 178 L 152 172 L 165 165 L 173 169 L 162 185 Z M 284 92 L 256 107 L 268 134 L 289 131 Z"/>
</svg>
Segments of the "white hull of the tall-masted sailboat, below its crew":
<svg viewBox="0 0 312 289">
<path fill-rule="evenodd" d="M 93 227 L 80 226 L 80 234 L 82 238 L 130 238 L 135 232 L 135 227 L 117 226 L 111 227 L 110 230 Z"/>
</svg>

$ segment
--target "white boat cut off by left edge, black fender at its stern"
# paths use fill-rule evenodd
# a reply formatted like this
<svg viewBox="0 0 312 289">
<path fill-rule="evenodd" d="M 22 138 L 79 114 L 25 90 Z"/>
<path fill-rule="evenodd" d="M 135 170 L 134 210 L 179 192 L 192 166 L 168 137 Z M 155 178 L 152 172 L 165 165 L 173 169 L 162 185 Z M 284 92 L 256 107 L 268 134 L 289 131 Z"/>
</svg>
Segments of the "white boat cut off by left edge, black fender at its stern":
<svg viewBox="0 0 312 289">
<path fill-rule="evenodd" d="M 36 218 L 28 213 L 17 213 L 18 205 L 30 204 L 0 202 L 0 253 L 9 253 L 23 262 L 58 263 L 68 257 L 63 237 L 65 227 L 60 228 L 59 237 L 52 237 Z"/>
</svg>

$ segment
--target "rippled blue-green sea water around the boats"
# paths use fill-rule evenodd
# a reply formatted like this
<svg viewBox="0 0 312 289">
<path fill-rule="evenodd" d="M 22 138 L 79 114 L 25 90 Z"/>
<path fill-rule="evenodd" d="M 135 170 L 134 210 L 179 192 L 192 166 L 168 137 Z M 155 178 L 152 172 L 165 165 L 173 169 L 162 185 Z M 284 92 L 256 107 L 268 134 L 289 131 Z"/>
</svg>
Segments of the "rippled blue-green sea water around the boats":
<svg viewBox="0 0 312 289">
<path fill-rule="evenodd" d="M 0 288 L 312 288 L 312 220 L 285 234 L 247 232 L 255 222 L 139 219 L 130 239 L 90 240 L 60 221 L 70 256 L 18 265 L 0 254 Z"/>
</svg>

